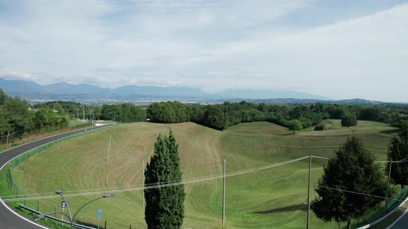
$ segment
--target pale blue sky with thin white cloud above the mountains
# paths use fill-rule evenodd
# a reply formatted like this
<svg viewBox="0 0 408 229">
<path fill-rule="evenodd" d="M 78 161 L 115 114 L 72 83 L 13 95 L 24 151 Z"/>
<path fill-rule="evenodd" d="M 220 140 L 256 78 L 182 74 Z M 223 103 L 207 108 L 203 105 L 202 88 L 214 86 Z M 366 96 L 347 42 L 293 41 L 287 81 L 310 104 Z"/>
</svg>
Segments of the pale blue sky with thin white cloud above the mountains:
<svg viewBox="0 0 408 229">
<path fill-rule="evenodd" d="M 0 0 L 0 78 L 408 101 L 408 1 Z"/>
</svg>

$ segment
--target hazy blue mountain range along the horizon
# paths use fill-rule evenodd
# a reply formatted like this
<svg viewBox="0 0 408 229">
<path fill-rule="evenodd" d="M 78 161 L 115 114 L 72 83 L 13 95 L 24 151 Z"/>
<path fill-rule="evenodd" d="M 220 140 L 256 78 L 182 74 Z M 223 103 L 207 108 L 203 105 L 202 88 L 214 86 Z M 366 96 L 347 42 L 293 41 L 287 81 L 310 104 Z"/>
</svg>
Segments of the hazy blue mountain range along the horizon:
<svg viewBox="0 0 408 229">
<path fill-rule="evenodd" d="M 0 88 L 7 94 L 24 99 L 83 100 L 83 99 L 318 99 L 326 97 L 293 90 L 227 89 L 217 94 L 206 94 L 198 88 L 127 85 L 119 88 L 101 88 L 91 84 L 53 83 L 40 85 L 33 81 L 0 78 Z"/>
</svg>

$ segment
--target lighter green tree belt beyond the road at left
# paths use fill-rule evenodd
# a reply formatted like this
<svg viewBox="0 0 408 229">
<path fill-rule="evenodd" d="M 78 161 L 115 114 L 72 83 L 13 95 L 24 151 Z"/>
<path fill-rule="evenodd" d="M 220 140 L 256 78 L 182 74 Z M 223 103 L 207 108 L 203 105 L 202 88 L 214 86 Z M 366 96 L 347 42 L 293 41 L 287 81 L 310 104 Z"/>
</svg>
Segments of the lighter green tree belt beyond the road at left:
<svg viewBox="0 0 408 229">
<path fill-rule="evenodd" d="M 71 101 L 50 101 L 28 104 L 19 97 L 10 97 L 0 89 L 0 143 L 36 133 L 68 128 L 71 120 L 111 120 L 135 122 L 146 120 L 146 109 L 131 103 L 89 106 Z"/>
</svg>

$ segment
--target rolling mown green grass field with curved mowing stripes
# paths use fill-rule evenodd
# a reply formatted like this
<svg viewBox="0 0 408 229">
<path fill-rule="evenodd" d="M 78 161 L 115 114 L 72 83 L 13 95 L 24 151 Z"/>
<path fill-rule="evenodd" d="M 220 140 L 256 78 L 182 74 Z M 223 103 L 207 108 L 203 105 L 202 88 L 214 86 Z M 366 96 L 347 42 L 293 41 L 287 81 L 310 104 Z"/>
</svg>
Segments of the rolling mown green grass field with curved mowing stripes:
<svg viewBox="0 0 408 229">
<path fill-rule="evenodd" d="M 327 120 L 331 128 L 313 128 L 288 135 L 288 130 L 272 123 L 241 123 L 221 132 L 195 123 L 133 123 L 115 126 L 59 143 L 28 159 L 13 171 L 15 181 L 29 194 L 53 195 L 142 186 L 142 160 L 149 160 L 159 133 L 174 131 L 180 147 L 183 179 L 222 174 L 265 166 L 307 155 L 332 157 L 347 135 L 360 135 L 364 145 L 378 159 L 386 159 L 387 144 L 395 129 L 382 123 L 359 121 L 356 128 L 341 128 L 339 120 Z M 327 125 L 327 123 L 326 123 Z M 328 126 L 328 125 L 327 125 Z M 109 135 L 112 136 L 109 162 L 106 161 Z M 313 159 L 312 182 L 322 173 L 326 161 Z M 226 221 L 233 228 L 304 228 L 308 159 L 285 166 L 226 180 Z M 221 221 L 222 181 L 212 180 L 185 186 L 183 228 L 211 228 Z M 315 193 L 312 194 L 314 198 Z M 76 211 L 82 203 L 98 195 L 69 197 Z M 37 206 L 37 201 L 27 202 Z M 61 199 L 40 201 L 41 212 L 51 212 Z M 97 224 L 96 210 L 102 208 L 102 222 L 109 228 L 145 228 L 142 191 L 121 192 L 86 206 L 77 220 Z M 311 228 L 337 228 L 314 215 Z"/>
</svg>

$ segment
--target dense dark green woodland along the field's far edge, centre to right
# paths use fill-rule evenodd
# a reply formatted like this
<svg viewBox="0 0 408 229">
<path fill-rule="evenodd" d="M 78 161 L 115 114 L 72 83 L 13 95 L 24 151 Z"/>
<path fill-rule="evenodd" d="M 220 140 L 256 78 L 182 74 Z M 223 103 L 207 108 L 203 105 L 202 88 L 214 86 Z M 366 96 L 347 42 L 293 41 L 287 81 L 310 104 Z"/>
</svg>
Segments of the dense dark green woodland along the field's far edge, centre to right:
<svg viewBox="0 0 408 229">
<path fill-rule="evenodd" d="M 216 130 L 252 121 L 270 121 L 290 130 L 310 126 L 324 130 L 324 119 L 342 119 L 342 126 L 357 125 L 357 120 L 379 121 L 400 127 L 408 119 L 408 107 L 358 106 L 329 103 L 277 105 L 266 103 L 224 102 L 216 105 L 156 102 L 147 108 L 147 118 L 158 123 L 193 121 Z"/>
</svg>

